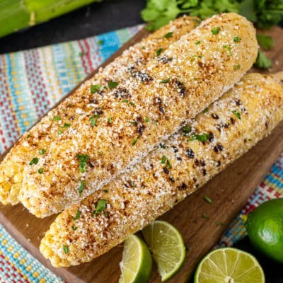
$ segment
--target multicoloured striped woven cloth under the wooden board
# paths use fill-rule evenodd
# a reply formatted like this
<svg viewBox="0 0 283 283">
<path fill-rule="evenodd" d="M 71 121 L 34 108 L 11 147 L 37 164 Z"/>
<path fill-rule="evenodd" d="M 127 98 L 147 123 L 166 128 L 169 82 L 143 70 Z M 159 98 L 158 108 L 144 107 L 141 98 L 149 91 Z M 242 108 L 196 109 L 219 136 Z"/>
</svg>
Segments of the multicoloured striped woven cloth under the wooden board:
<svg viewBox="0 0 283 283">
<path fill-rule="evenodd" d="M 141 25 L 84 40 L 0 55 L 0 154 L 132 37 Z M 241 215 L 283 196 L 283 154 L 250 197 Z M 231 246 L 246 235 L 238 216 L 219 241 Z M 0 225 L 0 283 L 62 282 L 23 249 Z"/>
</svg>

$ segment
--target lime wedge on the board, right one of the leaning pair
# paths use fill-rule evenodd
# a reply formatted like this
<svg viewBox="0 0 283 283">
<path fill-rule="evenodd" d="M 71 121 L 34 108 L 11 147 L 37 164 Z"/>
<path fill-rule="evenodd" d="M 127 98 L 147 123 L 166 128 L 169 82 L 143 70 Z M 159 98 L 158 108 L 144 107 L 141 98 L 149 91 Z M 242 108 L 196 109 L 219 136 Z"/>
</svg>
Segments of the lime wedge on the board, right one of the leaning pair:
<svg viewBox="0 0 283 283">
<path fill-rule="evenodd" d="M 173 277 L 185 260 L 185 243 L 180 232 L 166 221 L 153 221 L 142 231 L 157 264 L 162 281 Z"/>
</svg>

